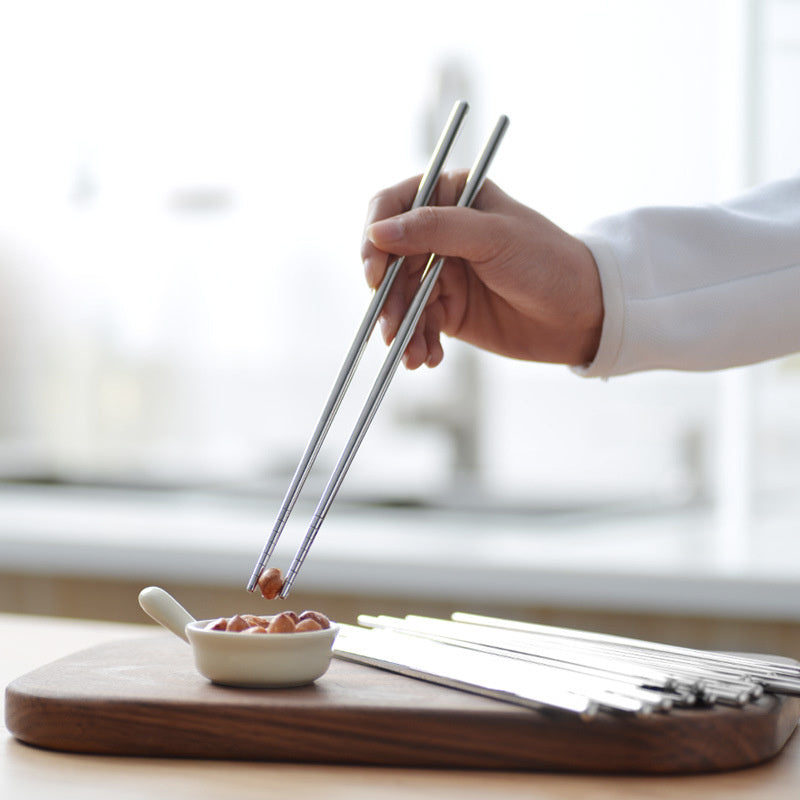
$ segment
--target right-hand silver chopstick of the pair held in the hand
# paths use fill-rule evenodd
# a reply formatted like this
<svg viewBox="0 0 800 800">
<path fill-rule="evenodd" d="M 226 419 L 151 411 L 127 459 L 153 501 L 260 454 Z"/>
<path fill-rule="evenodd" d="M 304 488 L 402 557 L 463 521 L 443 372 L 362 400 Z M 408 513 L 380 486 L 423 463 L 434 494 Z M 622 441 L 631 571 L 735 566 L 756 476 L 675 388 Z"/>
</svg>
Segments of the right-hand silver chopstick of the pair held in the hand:
<svg viewBox="0 0 800 800">
<path fill-rule="evenodd" d="M 458 201 L 459 207 L 470 206 L 475 200 L 475 197 L 480 191 L 481 186 L 483 186 L 489 166 L 492 163 L 500 142 L 502 141 L 506 129 L 508 128 L 508 122 L 508 117 L 502 116 L 495 125 L 495 128 L 484 145 L 481 154 L 478 156 L 478 159 L 467 176 L 467 182 Z M 347 445 L 345 446 L 345 449 L 342 452 L 336 467 L 334 468 L 333 474 L 331 475 L 331 478 L 325 487 L 325 491 L 320 498 L 317 508 L 314 511 L 314 516 L 311 519 L 311 524 L 309 525 L 305 538 L 300 545 L 300 549 L 297 551 L 294 560 L 289 566 L 289 570 L 286 573 L 286 577 L 283 582 L 283 589 L 280 595 L 282 598 L 288 597 L 292 588 L 292 584 L 297 577 L 297 573 L 299 572 L 300 567 L 302 567 L 303 562 L 308 555 L 308 551 L 310 550 L 311 545 L 313 544 L 314 539 L 316 538 L 317 533 L 322 526 L 323 521 L 325 520 L 328 510 L 330 509 L 336 494 L 338 493 L 339 488 L 344 481 L 350 465 L 353 463 L 353 459 L 358 452 L 358 448 L 361 446 L 361 442 L 364 440 L 364 437 L 367 434 L 367 430 L 369 429 L 369 426 L 378 411 L 381 401 L 386 394 L 386 390 L 389 388 L 389 383 L 397 371 L 397 367 L 400 364 L 403 353 L 405 352 L 406 347 L 408 347 L 411 337 L 414 335 L 414 331 L 416 330 L 419 319 L 422 316 L 423 310 L 425 309 L 425 305 L 431 296 L 433 287 L 439 278 L 439 273 L 441 272 L 443 265 L 444 258 L 440 258 L 435 253 L 432 254 L 428 260 L 428 264 L 425 267 L 425 272 L 423 273 L 419 288 L 417 289 L 417 292 L 411 301 L 411 305 L 409 306 L 408 311 L 406 312 L 406 315 L 400 324 L 397 336 L 392 342 L 392 346 L 389 348 L 389 353 L 386 356 L 386 360 L 384 361 L 383 366 L 378 373 L 378 377 L 372 386 L 372 391 L 370 392 L 369 397 L 364 404 L 364 408 L 361 411 L 358 421 L 356 422 L 353 433 L 351 434 L 350 439 L 348 440 Z"/>
</svg>

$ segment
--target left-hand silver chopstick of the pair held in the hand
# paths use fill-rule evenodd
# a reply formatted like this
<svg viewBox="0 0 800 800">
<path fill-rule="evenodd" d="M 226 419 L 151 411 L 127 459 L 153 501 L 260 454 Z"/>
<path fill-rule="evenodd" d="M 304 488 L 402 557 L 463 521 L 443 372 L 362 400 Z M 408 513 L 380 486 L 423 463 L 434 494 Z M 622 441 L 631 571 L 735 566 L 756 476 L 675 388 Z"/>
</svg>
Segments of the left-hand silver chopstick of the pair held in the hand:
<svg viewBox="0 0 800 800">
<path fill-rule="evenodd" d="M 442 174 L 445 161 L 447 160 L 447 156 L 450 154 L 450 151 L 453 148 L 453 144 L 456 141 L 458 133 L 461 129 L 461 125 L 467 115 L 467 111 L 469 111 L 469 105 L 463 100 L 458 101 L 453 105 L 453 109 L 450 112 L 450 116 L 445 124 L 444 130 L 442 131 L 439 141 L 437 142 L 433 154 L 431 155 L 430 162 L 428 163 L 428 166 L 425 169 L 422 178 L 420 179 L 417 194 L 414 197 L 413 203 L 411 204 L 412 209 L 428 205 L 430 202 L 433 191 L 436 188 L 436 183 L 439 180 L 439 176 Z M 350 349 L 345 356 L 345 360 L 341 366 L 341 369 L 339 370 L 339 374 L 336 377 L 336 381 L 331 389 L 330 395 L 328 396 L 328 400 L 325 403 L 325 407 L 322 410 L 322 414 L 317 421 L 317 426 L 314 429 L 314 432 L 311 434 L 311 438 L 306 445 L 306 449 L 300 458 L 300 463 L 297 465 L 297 469 L 292 476 L 291 483 L 289 484 L 289 488 L 284 495 L 283 502 L 281 503 L 280 510 L 278 511 L 278 515 L 275 519 L 275 524 L 272 527 L 272 533 L 270 534 L 266 545 L 264 545 L 264 549 L 261 551 L 261 555 L 259 556 L 256 566 L 253 569 L 253 573 L 250 576 L 250 580 L 247 583 L 248 591 L 252 592 L 253 589 L 255 589 L 261 571 L 264 569 L 265 564 L 275 550 L 278 539 L 283 532 L 284 527 L 286 526 L 286 522 L 292 513 L 292 509 L 297 503 L 297 498 L 300 496 L 300 492 L 303 489 L 306 478 L 308 478 L 308 475 L 311 472 L 311 467 L 314 465 L 314 461 L 316 460 L 320 448 L 322 447 L 322 443 L 328 434 L 328 430 L 330 429 L 331 423 L 336 416 L 336 412 L 339 410 L 342 398 L 344 397 L 345 392 L 350 385 L 350 381 L 352 380 L 356 367 L 358 366 L 361 356 L 366 349 L 367 342 L 372 335 L 372 331 L 375 328 L 375 323 L 378 321 L 378 316 L 383 308 L 383 304 L 386 302 L 386 297 L 389 294 L 389 290 L 392 288 L 392 284 L 397 277 L 397 273 L 400 271 L 400 267 L 403 265 L 403 261 L 404 257 L 400 256 L 389 264 L 386 274 L 381 281 L 381 285 L 372 296 L 372 300 L 370 301 L 370 304 L 364 315 L 364 319 L 362 320 L 361 325 L 356 332 L 353 343 L 350 345 Z"/>
</svg>

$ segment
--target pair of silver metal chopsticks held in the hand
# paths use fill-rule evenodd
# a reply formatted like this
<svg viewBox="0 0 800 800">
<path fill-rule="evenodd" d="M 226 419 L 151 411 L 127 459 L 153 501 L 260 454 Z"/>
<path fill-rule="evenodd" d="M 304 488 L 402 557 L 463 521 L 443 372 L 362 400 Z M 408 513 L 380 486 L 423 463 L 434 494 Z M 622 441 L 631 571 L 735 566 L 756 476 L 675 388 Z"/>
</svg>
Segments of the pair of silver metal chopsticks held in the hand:
<svg viewBox="0 0 800 800">
<path fill-rule="evenodd" d="M 467 103 L 463 101 L 456 103 L 453 107 L 445 129 L 442 132 L 441 138 L 439 139 L 433 155 L 431 156 L 430 163 L 428 164 L 428 167 L 422 176 L 419 189 L 417 190 L 416 197 L 414 198 L 414 202 L 411 206 L 412 209 L 427 205 L 430 202 L 433 191 L 436 188 L 436 183 L 442 173 L 445 161 L 453 147 L 458 132 L 467 114 L 468 108 L 469 107 Z M 475 197 L 483 185 L 486 174 L 489 170 L 489 166 L 494 159 L 500 142 L 505 135 L 508 122 L 508 117 L 501 116 L 495 125 L 494 130 L 489 136 L 486 144 L 483 147 L 483 150 L 481 151 L 480 155 L 475 161 L 475 164 L 470 170 L 469 175 L 467 176 L 467 181 L 461 193 L 461 197 L 459 198 L 458 206 L 470 206 L 475 200 Z M 397 277 L 400 267 L 403 265 L 403 261 L 404 258 L 400 257 L 394 259 L 389 264 L 381 285 L 372 297 L 372 301 L 367 308 L 367 312 L 364 316 L 361 326 L 356 333 L 355 339 L 350 346 L 350 350 L 348 351 L 342 368 L 339 371 L 339 375 L 336 378 L 333 389 L 328 397 L 328 401 L 323 408 L 322 415 L 317 422 L 314 433 L 312 434 L 311 439 L 306 446 L 306 449 L 300 459 L 300 463 L 298 464 L 291 483 L 289 484 L 289 488 L 284 496 L 283 503 L 281 504 L 278 516 L 275 520 L 272 533 L 270 534 L 264 549 L 261 551 L 261 555 L 259 556 L 253 573 L 250 576 L 247 589 L 251 592 L 255 589 L 262 570 L 272 556 L 275 546 L 278 543 L 278 539 L 280 538 L 280 535 L 286 526 L 286 522 L 289 519 L 289 515 L 292 513 L 292 509 L 294 508 L 295 503 L 300 496 L 300 492 L 303 489 L 306 478 L 311 471 L 317 454 L 322 447 L 325 436 L 327 435 L 331 423 L 333 422 L 333 418 L 339 409 L 348 386 L 350 385 L 350 380 L 355 373 L 358 362 L 360 361 L 367 342 L 372 335 L 372 331 L 375 328 L 375 323 L 378 320 L 378 316 L 380 315 L 383 304 L 386 301 L 389 290 L 391 289 L 392 284 Z M 417 292 L 411 301 L 411 305 L 409 306 L 405 317 L 403 318 L 403 321 L 397 332 L 397 336 L 389 348 L 386 360 L 384 361 L 378 377 L 375 380 L 372 391 L 370 392 L 367 401 L 364 404 L 363 410 L 354 426 L 350 439 L 345 445 L 342 455 L 340 456 L 339 461 L 337 462 L 336 467 L 334 468 L 334 471 L 328 481 L 328 484 L 325 487 L 322 497 L 317 504 L 305 538 L 303 539 L 300 548 L 298 549 L 291 565 L 289 566 L 283 582 L 283 588 L 280 593 L 282 598 L 285 598 L 289 595 L 292 584 L 297 577 L 297 573 L 302 567 L 311 545 L 314 543 L 314 539 L 316 538 L 316 535 L 322 526 L 328 511 L 330 510 L 330 507 L 339 491 L 339 488 L 342 485 L 342 482 L 344 481 L 345 475 L 347 474 L 353 459 L 355 458 L 361 442 L 364 440 L 364 436 L 366 435 L 367 430 L 369 429 L 369 426 L 375 417 L 378 407 L 380 406 L 380 403 L 386 394 L 389 383 L 397 371 L 397 367 L 400 364 L 403 353 L 405 352 L 405 349 L 408 346 L 414 331 L 416 330 L 417 323 L 419 322 L 422 312 L 425 309 L 425 305 L 430 298 L 431 292 L 433 291 L 433 287 L 436 284 L 443 264 L 444 258 L 439 258 L 436 254 L 432 254 L 430 256 L 428 264 L 426 265 L 420 280 L 420 285 L 417 289 Z"/>
</svg>

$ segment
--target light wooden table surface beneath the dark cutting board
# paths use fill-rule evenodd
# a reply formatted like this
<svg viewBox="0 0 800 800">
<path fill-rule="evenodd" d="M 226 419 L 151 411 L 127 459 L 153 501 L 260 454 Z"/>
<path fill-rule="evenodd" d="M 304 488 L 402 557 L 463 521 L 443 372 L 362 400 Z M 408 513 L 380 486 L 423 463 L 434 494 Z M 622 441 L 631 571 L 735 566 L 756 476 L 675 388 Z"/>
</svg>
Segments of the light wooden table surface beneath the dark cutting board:
<svg viewBox="0 0 800 800">
<path fill-rule="evenodd" d="M 141 636 L 147 626 L 0 615 L 0 679 L 12 679 L 76 650 Z M 224 761 L 116 758 L 49 752 L 17 742 L 3 728 L 0 797 L 303 798 L 376 797 L 508 800 L 526 798 L 702 797 L 795 800 L 800 796 L 800 735 L 767 764 L 716 775 L 673 778 L 329 767 Z"/>
</svg>

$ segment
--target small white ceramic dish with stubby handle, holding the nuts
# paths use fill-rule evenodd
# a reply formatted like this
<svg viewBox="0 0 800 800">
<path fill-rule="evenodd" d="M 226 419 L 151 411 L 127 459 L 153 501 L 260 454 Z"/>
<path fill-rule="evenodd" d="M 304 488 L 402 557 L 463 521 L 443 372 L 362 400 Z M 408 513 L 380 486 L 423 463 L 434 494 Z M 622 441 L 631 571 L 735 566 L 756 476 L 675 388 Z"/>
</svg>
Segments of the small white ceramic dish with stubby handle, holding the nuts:
<svg viewBox="0 0 800 800">
<path fill-rule="evenodd" d="M 209 631 L 169 593 L 150 586 L 139 605 L 192 646 L 197 671 L 213 683 L 246 688 L 305 686 L 324 675 L 339 626 L 303 633 Z"/>
</svg>

